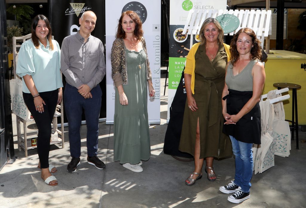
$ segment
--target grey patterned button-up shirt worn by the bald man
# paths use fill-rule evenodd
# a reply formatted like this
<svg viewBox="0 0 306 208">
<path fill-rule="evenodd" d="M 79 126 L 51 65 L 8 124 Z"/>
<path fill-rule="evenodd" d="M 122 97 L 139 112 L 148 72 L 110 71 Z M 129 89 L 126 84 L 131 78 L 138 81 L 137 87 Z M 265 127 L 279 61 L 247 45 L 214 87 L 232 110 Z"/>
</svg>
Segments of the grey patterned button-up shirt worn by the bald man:
<svg viewBox="0 0 306 208">
<path fill-rule="evenodd" d="M 87 84 L 90 89 L 104 78 L 104 47 L 100 39 L 90 35 L 84 43 L 79 31 L 64 38 L 61 49 L 61 71 L 73 87 Z"/>
</svg>

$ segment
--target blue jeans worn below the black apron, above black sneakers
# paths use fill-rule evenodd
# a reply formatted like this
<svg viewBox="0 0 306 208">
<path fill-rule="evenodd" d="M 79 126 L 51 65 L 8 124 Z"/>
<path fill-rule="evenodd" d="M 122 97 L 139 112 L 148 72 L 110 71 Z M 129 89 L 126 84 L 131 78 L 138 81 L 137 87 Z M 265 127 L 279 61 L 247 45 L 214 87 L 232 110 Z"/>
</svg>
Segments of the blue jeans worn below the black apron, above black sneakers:
<svg viewBox="0 0 306 208">
<path fill-rule="evenodd" d="M 253 175 L 253 152 L 252 143 L 239 142 L 233 136 L 233 154 L 235 155 L 235 180 L 234 184 L 241 187 L 241 191 L 249 192 Z"/>
</svg>

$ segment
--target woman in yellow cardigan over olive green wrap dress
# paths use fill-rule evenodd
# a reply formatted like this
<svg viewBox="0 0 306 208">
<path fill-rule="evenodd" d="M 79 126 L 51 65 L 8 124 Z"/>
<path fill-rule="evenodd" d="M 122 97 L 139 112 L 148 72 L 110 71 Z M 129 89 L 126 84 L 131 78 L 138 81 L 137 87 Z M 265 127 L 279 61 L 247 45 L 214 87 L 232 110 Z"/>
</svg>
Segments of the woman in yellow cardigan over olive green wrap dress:
<svg viewBox="0 0 306 208">
<path fill-rule="evenodd" d="M 187 100 L 179 150 L 192 154 L 195 162 L 185 180 L 188 186 L 202 178 L 204 158 L 207 179 L 214 181 L 214 158 L 232 156 L 230 139 L 222 133 L 221 105 L 230 46 L 223 43 L 223 30 L 214 18 L 203 22 L 199 34 L 201 41 L 189 51 L 184 74 Z"/>
</svg>

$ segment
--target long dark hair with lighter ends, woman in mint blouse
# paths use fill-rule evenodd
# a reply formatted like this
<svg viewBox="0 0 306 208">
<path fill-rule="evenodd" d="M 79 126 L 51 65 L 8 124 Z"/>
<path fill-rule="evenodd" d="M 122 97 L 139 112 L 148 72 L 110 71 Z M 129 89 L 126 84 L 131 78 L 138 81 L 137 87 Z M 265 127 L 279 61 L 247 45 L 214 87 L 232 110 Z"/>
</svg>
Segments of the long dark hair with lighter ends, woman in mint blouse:
<svg viewBox="0 0 306 208">
<path fill-rule="evenodd" d="M 49 33 L 47 35 L 47 39 L 49 41 L 49 44 L 50 44 L 50 49 L 53 50 L 53 43 L 52 43 L 52 29 L 51 29 L 51 26 L 50 26 L 50 23 L 49 23 L 49 20 L 47 19 L 46 16 L 42 15 L 42 14 L 38 14 L 34 17 L 33 19 L 33 22 L 32 22 L 32 41 L 34 43 L 34 46 L 35 48 L 39 48 L 39 39 L 38 37 L 36 36 L 36 33 L 35 33 L 35 30 L 36 30 L 36 27 L 38 25 L 38 21 L 39 20 L 43 20 L 45 21 L 46 25 L 47 25 L 47 28 L 49 29 Z"/>
</svg>

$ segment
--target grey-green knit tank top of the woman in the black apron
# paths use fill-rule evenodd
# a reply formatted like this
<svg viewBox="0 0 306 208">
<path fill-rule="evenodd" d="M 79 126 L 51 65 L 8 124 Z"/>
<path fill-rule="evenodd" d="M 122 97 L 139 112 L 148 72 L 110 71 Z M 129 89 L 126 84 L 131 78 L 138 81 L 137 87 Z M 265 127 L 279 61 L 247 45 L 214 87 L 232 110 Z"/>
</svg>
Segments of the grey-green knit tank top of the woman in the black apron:
<svg viewBox="0 0 306 208">
<path fill-rule="evenodd" d="M 257 62 L 257 59 L 251 60 L 236 76 L 233 76 L 233 65 L 230 63 L 225 77 L 227 87 L 237 91 L 253 91 L 252 69 Z"/>
</svg>

